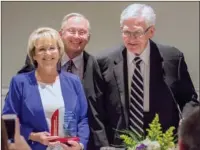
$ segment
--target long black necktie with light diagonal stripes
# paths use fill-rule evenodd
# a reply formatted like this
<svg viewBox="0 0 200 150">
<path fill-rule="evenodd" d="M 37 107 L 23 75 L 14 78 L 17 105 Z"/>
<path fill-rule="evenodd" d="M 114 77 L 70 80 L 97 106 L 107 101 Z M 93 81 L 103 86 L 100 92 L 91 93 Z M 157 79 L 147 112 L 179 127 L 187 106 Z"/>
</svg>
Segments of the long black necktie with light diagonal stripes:
<svg viewBox="0 0 200 150">
<path fill-rule="evenodd" d="M 129 129 L 139 137 L 144 135 L 143 129 L 143 77 L 140 70 L 140 57 L 135 57 L 135 70 L 131 81 L 130 107 L 129 107 Z"/>
</svg>

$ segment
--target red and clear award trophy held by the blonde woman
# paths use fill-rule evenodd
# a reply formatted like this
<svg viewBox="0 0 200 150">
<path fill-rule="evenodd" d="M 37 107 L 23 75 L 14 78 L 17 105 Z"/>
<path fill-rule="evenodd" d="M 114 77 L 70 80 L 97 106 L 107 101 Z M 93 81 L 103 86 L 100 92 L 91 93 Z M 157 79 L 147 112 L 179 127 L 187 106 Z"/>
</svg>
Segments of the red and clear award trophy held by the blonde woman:
<svg viewBox="0 0 200 150">
<path fill-rule="evenodd" d="M 50 132 L 52 136 L 59 136 L 53 141 L 67 143 L 68 141 L 79 142 L 77 137 L 77 125 L 75 114 L 71 111 L 66 112 L 65 108 L 57 109 L 51 116 Z"/>
</svg>

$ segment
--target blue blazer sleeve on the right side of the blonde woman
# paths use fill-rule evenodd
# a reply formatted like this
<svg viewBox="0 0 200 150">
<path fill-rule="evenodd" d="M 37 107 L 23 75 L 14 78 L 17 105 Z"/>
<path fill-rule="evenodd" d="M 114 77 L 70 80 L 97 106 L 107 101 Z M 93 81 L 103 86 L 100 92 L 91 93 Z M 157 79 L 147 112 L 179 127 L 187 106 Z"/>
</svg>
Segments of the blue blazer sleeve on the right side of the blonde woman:
<svg viewBox="0 0 200 150">
<path fill-rule="evenodd" d="M 77 80 L 78 99 L 80 102 L 80 112 L 78 119 L 78 137 L 80 137 L 80 143 L 84 145 L 84 149 L 87 149 L 87 142 L 90 132 L 87 117 L 88 104 L 82 87 L 82 83 L 80 82 L 79 78 L 77 78 Z"/>
</svg>

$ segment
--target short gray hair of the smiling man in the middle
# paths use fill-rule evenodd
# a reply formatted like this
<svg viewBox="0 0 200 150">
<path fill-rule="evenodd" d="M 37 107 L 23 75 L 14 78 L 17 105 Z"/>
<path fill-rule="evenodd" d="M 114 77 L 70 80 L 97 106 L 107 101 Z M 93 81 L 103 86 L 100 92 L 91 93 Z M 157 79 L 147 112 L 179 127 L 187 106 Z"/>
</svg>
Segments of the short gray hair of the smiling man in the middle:
<svg viewBox="0 0 200 150">
<path fill-rule="evenodd" d="M 89 29 L 89 31 L 91 30 L 89 20 L 88 20 L 84 15 L 82 15 L 82 14 L 80 14 L 80 13 L 70 13 L 70 14 L 67 14 L 66 16 L 64 16 L 64 18 L 63 18 L 63 20 L 62 20 L 62 23 L 61 23 L 61 29 L 63 29 L 64 25 L 66 24 L 66 22 L 67 22 L 71 17 L 81 17 L 81 18 L 86 19 L 87 22 L 88 22 L 88 29 Z"/>
</svg>

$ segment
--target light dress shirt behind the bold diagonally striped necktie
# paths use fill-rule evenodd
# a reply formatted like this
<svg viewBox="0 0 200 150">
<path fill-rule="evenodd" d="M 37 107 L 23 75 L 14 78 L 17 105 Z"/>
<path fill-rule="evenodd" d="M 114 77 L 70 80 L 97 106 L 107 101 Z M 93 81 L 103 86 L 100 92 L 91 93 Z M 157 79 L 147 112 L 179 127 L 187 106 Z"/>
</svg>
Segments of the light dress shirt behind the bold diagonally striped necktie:
<svg viewBox="0 0 200 150">
<path fill-rule="evenodd" d="M 127 50 L 127 65 L 128 65 L 128 85 L 129 93 L 131 92 L 131 80 L 135 69 L 134 58 L 135 54 Z M 147 47 L 139 56 L 142 61 L 140 63 L 140 69 L 144 81 L 144 111 L 149 111 L 149 77 L 150 77 L 150 43 L 148 42 Z"/>
</svg>

